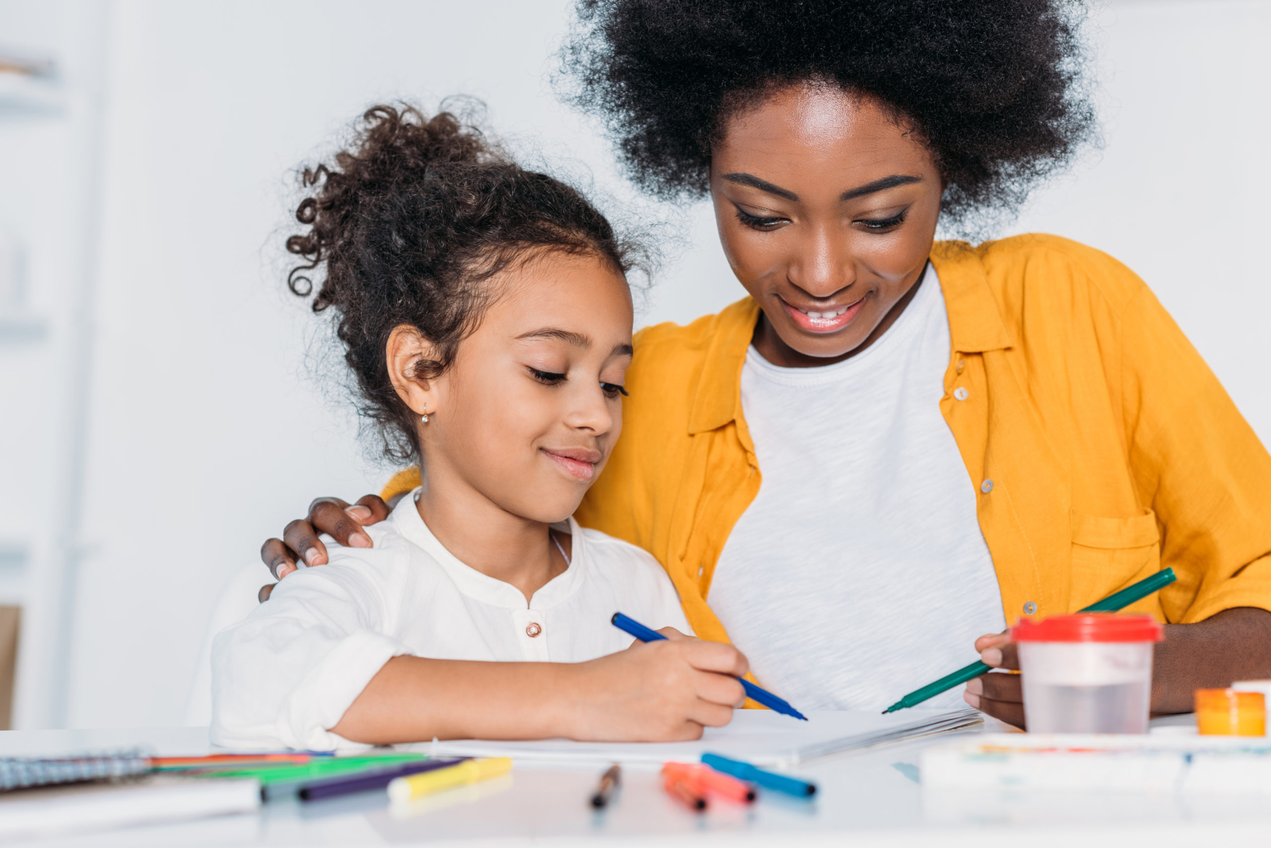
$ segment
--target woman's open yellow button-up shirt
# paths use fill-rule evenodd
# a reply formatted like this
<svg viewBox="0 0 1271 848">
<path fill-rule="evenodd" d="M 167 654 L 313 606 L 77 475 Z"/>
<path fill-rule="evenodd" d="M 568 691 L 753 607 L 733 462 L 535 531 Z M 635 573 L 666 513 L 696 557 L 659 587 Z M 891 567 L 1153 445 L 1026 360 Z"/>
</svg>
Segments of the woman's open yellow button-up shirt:
<svg viewBox="0 0 1271 848">
<path fill-rule="evenodd" d="M 1007 621 L 1079 609 L 1166 566 L 1178 581 L 1131 609 L 1183 623 L 1271 609 L 1271 456 L 1143 281 L 1046 235 L 937 242 L 930 258 L 952 338 L 941 413 Z M 728 637 L 710 578 L 761 479 L 741 410 L 758 320 L 747 297 L 636 335 L 622 438 L 576 513 L 657 557 L 716 641 Z M 411 468 L 385 496 L 416 485 Z"/>
</svg>

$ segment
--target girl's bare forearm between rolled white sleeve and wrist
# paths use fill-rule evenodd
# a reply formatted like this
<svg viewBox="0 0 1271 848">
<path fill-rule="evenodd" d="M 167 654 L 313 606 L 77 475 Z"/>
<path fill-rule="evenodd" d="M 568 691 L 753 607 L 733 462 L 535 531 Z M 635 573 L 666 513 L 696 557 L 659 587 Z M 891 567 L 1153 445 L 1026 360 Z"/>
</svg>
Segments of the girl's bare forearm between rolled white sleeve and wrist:
<svg viewBox="0 0 1271 848">
<path fill-rule="evenodd" d="M 330 727 L 350 741 L 569 735 L 578 666 L 394 656 Z"/>
</svg>

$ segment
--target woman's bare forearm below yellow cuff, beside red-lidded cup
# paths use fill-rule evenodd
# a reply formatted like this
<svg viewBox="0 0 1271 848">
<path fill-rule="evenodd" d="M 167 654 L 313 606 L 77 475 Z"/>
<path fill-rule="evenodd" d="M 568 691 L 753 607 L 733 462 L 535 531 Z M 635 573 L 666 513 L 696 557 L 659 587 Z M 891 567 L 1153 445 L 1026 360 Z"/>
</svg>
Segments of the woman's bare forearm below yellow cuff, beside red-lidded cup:
<svg viewBox="0 0 1271 848">
<path fill-rule="evenodd" d="M 1153 712 L 1191 712 L 1196 689 L 1271 678 L 1271 612 L 1237 607 L 1166 625 L 1152 669 Z"/>
</svg>

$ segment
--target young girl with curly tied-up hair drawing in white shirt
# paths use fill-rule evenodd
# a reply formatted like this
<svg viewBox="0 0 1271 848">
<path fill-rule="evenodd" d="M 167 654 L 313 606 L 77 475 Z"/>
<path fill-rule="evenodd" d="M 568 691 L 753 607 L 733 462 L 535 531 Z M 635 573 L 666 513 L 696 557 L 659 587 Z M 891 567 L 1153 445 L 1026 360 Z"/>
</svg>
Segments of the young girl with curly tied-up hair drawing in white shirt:
<svg viewBox="0 0 1271 848">
<path fill-rule="evenodd" d="M 636 741 L 727 724 L 745 658 L 683 636 L 657 561 L 572 518 L 622 429 L 632 357 L 625 246 L 605 218 L 411 108 L 367 112 L 355 149 L 304 182 L 291 289 L 323 268 L 314 310 L 334 308 L 361 411 L 423 485 L 374 547 L 329 546 L 216 639 L 214 741 Z M 630 645 L 616 611 L 670 641 Z"/>
</svg>

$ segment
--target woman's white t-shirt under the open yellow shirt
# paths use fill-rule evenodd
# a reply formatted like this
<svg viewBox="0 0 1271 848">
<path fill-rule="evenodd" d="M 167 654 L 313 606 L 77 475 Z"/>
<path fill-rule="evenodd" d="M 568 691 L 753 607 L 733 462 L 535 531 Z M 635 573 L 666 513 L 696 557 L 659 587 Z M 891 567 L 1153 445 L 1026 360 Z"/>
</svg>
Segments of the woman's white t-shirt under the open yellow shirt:
<svg viewBox="0 0 1271 848">
<path fill-rule="evenodd" d="M 1005 627 L 976 498 L 939 410 L 949 329 L 935 270 L 862 353 L 779 368 L 751 348 L 741 405 L 763 474 L 708 602 L 798 710 L 882 710 Z M 961 703 L 961 689 L 927 702 Z"/>
</svg>

